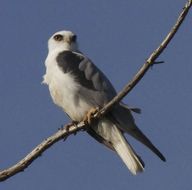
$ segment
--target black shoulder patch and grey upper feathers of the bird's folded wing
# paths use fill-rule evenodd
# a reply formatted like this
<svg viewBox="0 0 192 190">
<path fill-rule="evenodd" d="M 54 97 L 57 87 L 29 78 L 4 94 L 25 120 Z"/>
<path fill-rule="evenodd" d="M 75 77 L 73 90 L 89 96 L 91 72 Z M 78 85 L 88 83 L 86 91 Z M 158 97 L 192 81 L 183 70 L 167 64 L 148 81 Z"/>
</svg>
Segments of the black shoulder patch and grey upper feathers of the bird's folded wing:
<svg viewBox="0 0 192 190">
<path fill-rule="evenodd" d="M 103 72 L 82 53 L 62 51 L 56 59 L 58 66 L 63 72 L 73 74 L 82 86 L 95 91 L 110 91 L 112 94 L 116 93 Z"/>
</svg>

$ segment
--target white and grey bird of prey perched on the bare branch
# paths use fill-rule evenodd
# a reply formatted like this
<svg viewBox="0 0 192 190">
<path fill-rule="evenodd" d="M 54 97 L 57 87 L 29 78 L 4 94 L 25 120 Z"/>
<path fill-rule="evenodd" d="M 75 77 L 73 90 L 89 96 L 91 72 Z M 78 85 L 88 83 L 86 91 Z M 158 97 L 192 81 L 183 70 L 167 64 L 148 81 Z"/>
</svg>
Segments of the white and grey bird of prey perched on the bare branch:
<svg viewBox="0 0 192 190">
<path fill-rule="evenodd" d="M 72 31 L 59 31 L 49 38 L 45 67 L 43 83 L 48 85 L 53 102 L 73 122 L 89 120 L 91 114 L 117 95 L 103 71 L 79 50 L 77 35 Z M 132 112 L 139 112 L 139 109 L 131 109 L 121 101 L 91 123 L 87 133 L 117 153 L 136 175 L 144 171 L 145 164 L 125 134 L 144 144 L 162 161 L 166 159 L 137 127 Z"/>
</svg>

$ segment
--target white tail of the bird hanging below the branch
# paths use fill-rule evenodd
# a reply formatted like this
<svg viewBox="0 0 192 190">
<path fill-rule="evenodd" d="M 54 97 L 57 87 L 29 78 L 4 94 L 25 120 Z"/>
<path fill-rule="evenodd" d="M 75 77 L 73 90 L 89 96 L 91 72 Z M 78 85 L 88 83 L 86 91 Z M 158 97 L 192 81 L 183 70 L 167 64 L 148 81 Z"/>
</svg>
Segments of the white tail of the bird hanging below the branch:
<svg viewBox="0 0 192 190">
<path fill-rule="evenodd" d="M 100 136 L 112 144 L 132 174 L 136 175 L 138 172 L 144 170 L 142 162 L 115 124 L 103 118 L 99 124 L 93 128 Z"/>
</svg>

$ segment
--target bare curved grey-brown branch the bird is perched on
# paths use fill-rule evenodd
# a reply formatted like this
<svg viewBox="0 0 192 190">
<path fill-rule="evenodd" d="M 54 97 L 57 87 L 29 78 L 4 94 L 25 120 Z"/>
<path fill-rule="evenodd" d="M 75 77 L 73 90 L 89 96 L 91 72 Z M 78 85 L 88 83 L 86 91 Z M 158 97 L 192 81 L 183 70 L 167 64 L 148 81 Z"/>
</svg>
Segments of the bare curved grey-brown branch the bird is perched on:
<svg viewBox="0 0 192 190">
<path fill-rule="evenodd" d="M 192 5 L 192 0 L 188 0 L 185 4 L 183 10 L 181 11 L 175 25 L 171 28 L 168 35 L 165 37 L 165 39 L 162 41 L 162 43 L 159 45 L 159 47 L 149 56 L 147 61 L 144 63 L 144 65 L 140 68 L 138 73 L 133 77 L 133 79 L 123 88 L 121 92 L 118 93 L 116 97 L 114 97 L 108 104 L 106 104 L 101 110 L 99 110 L 95 115 L 94 118 L 99 118 L 103 116 L 109 109 L 111 109 L 114 104 L 121 101 L 133 88 L 134 86 L 143 78 L 145 73 L 148 71 L 148 69 L 155 64 L 155 60 L 159 57 L 159 55 L 165 50 L 171 39 L 174 37 L 176 32 L 178 31 L 180 25 L 184 21 L 190 7 Z M 55 134 L 44 140 L 41 144 L 39 144 L 36 148 L 34 148 L 25 158 L 20 160 L 17 164 L 13 165 L 12 167 L 0 171 L 0 181 L 4 181 L 11 176 L 24 171 L 35 159 L 41 156 L 41 154 L 47 150 L 50 146 L 58 142 L 59 140 L 62 140 L 66 137 L 68 137 L 70 134 L 75 134 L 76 132 L 80 130 L 86 129 L 86 124 L 84 122 L 80 122 L 77 125 L 74 124 L 68 124 L 70 125 L 70 128 L 67 130 L 68 127 L 65 126 L 65 128 L 61 128 L 59 131 L 57 131 Z"/>
</svg>

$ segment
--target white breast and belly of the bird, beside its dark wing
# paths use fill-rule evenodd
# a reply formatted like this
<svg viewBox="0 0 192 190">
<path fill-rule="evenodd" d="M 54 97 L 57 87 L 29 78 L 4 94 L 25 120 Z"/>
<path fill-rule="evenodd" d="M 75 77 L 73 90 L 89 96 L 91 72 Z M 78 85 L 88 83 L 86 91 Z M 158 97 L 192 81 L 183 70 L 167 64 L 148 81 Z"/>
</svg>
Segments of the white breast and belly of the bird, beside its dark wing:
<svg viewBox="0 0 192 190">
<path fill-rule="evenodd" d="M 54 103 L 62 107 L 72 120 L 81 121 L 91 109 L 91 105 L 80 98 L 80 86 L 74 77 L 70 73 L 63 73 L 56 64 L 47 65 L 44 83 L 48 84 Z"/>
</svg>

